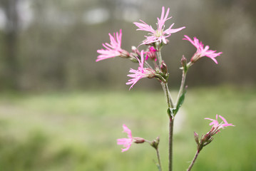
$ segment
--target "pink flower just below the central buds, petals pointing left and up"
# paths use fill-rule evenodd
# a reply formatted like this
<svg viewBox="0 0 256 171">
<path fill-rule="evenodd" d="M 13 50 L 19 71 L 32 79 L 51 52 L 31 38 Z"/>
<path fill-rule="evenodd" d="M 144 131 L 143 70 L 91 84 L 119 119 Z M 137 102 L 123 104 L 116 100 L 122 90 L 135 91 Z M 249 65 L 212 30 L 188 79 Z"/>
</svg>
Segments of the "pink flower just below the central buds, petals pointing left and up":
<svg viewBox="0 0 256 171">
<path fill-rule="evenodd" d="M 132 86 L 130 86 L 130 88 L 133 88 L 133 85 L 135 83 L 137 83 L 141 78 L 147 78 L 147 77 L 148 78 L 153 78 L 155 76 L 155 71 L 153 69 L 143 67 L 144 51 L 140 52 L 140 58 L 141 58 L 141 61 L 137 58 L 138 63 L 140 65 L 138 67 L 138 70 L 134 70 L 134 69 L 130 68 L 129 72 L 132 73 L 132 74 L 127 75 L 127 76 L 131 77 L 131 79 L 128 80 L 128 82 L 126 83 L 126 85 L 132 84 Z"/>
</svg>

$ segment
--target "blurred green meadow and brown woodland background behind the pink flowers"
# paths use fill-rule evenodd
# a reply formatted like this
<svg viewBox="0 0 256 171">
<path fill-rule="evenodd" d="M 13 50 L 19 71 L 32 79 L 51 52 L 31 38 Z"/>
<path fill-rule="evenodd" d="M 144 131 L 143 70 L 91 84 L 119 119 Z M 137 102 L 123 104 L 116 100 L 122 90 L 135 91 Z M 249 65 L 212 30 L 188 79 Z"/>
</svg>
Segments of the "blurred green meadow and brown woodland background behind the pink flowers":
<svg viewBox="0 0 256 171">
<path fill-rule="evenodd" d="M 216 135 L 195 170 L 256 170 L 254 0 L 1 0 L 1 170 L 157 170 L 148 145 L 121 153 L 116 138 L 126 136 L 123 123 L 135 136 L 160 135 L 167 165 L 168 118 L 158 81 L 144 79 L 128 91 L 126 75 L 137 64 L 122 58 L 96 63 L 108 33 L 122 29 L 122 48 L 130 51 L 145 36 L 133 22 L 155 28 L 162 6 L 173 16 L 166 27 L 186 27 L 168 38 L 162 53 L 174 97 L 180 58 L 195 53 L 184 34 L 222 51 L 219 64 L 202 58 L 188 72 L 175 125 L 175 170 L 188 167 L 193 131 L 208 132 L 203 118 L 215 114 L 236 127 Z"/>
</svg>

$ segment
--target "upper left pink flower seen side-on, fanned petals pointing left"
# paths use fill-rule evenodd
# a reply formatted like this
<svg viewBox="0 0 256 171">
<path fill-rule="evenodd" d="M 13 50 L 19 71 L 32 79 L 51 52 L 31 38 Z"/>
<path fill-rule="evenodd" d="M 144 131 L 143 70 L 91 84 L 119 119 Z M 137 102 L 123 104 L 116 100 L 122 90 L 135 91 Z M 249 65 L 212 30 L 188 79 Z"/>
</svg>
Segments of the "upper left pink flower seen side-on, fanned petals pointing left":
<svg viewBox="0 0 256 171">
<path fill-rule="evenodd" d="M 113 33 L 113 36 L 111 35 L 111 33 L 108 33 L 108 35 L 111 39 L 111 43 L 102 44 L 106 49 L 102 48 L 97 51 L 101 55 L 97 57 L 96 62 L 104 60 L 106 58 L 114 58 L 116 56 L 128 57 L 129 53 L 121 48 L 122 30 L 120 30 L 120 33 Z"/>
</svg>

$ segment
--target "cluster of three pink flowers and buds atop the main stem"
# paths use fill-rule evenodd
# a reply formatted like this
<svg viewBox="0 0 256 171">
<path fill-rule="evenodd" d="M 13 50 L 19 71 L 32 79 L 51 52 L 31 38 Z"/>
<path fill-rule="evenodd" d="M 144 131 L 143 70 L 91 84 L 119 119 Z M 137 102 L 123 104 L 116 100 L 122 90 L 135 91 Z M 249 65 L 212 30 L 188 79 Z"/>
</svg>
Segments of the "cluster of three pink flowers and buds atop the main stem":
<svg viewBox="0 0 256 171">
<path fill-rule="evenodd" d="M 182 30 L 185 27 L 181 27 L 181 28 L 175 28 L 173 29 L 173 24 L 167 28 L 165 31 L 163 30 L 163 28 L 165 27 L 165 21 L 168 21 L 168 19 L 170 19 L 171 17 L 168 17 L 170 9 L 168 8 L 165 14 L 165 8 L 162 8 L 162 13 L 160 16 L 160 19 L 158 18 L 158 28 L 156 30 L 154 30 L 152 28 L 152 26 L 145 24 L 144 21 L 141 21 L 142 23 L 138 23 L 135 22 L 135 26 L 138 26 L 137 30 L 141 30 L 141 31 L 149 31 L 150 32 L 150 36 L 146 36 L 146 40 L 143 41 L 143 44 L 149 44 L 149 43 L 167 43 L 167 39 L 171 33 L 176 33 L 180 30 Z M 132 61 L 137 61 L 139 63 L 139 67 L 138 70 L 135 69 L 130 69 L 130 74 L 128 74 L 128 77 L 130 77 L 130 79 L 128 80 L 128 82 L 126 83 L 126 85 L 130 85 L 130 88 L 133 88 L 133 86 L 135 85 L 135 83 L 137 83 L 141 78 L 154 78 L 156 76 L 157 73 L 157 68 L 160 68 L 159 66 L 156 65 L 155 63 L 155 69 L 151 68 L 151 67 L 145 67 L 144 68 L 144 63 L 145 60 L 148 60 L 148 58 L 152 59 L 153 61 L 157 61 L 157 54 L 156 51 L 158 51 L 156 48 L 154 48 L 154 46 L 150 46 L 148 48 L 148 51 L 138 51 L 138 49 L 136 48 L 136 53 L 128 53 L 127 51 L 123 50 L 123 48 L 121 48 L 121 38 L 122 38 L 122 30 L 120 30 L 120 32 L 116 32 L 113 33 L 113 36 L 111 35 L 111 33 L 108 34 L 111 43 L 103 43 L 103 47 L 106 49 L 99 49 L 97 52 L 100 53 L 100 55 L 98 56 L 98 58 L 96 59 L 96 61 L 101 61 L 107 58 L 114 58 L 116 56 L 120 56 L 123 58 L 130 58 L 130 60 Z M 135 51 L 133 48 L 133 52 Z M 144 60 L 144 55 L 145 55 L 145 60 Z M 161 60 L 160 60 L 161 61 Z M 160 65 L 162 65 L 162 63 L 160 63 Z M 165 73 L 166 74 L 166 73 Z M 165 75 L 163 74 L 163 75 Z M 159 74 L 158 74 L 158 80 L 161 80 L 161 78 L 159 79 Z M 161 77 L 161 76 L 160 76 Z"/>
</svg>

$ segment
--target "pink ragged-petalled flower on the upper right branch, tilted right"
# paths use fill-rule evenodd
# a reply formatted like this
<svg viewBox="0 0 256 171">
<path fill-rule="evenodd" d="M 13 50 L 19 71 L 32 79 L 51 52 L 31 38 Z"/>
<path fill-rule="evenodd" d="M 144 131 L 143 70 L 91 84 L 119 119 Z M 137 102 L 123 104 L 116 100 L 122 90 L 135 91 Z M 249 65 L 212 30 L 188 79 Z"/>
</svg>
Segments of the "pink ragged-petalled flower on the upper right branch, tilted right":
<svg viewBox="0 0 256 171">
<path fill-rule="evenodd" d="M 198 59 L 203 56 L 207 56 L 207 57 L 213 59 L 213 61 L 215 63 L 217 63 L 217 60 L 215 59 L 215 57 L 220 56 L 220 54 L 222 52 L 215 53 L 216 51 L 208 50 L 209 46 L 205 46 L 205 48 L 203 48 L 202 41 L 199 42 L 198 38 L 196 38 L 196 37 L 194 37 L 194 41 L 193 41 L 187 35 L 184 35 L 184 36 L 185 36 L 185 38 L 183 38 L 183 40 L 190 41 L 190 43 L 192 43 L 193 46 L 195 46 L 195 48 L 197 48 L 197 51 L 195 52 L 194 56 L 190 60 L 192 63 L 195 63 L 195 61 L 198 61 Z"/>
</svg>

